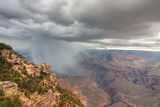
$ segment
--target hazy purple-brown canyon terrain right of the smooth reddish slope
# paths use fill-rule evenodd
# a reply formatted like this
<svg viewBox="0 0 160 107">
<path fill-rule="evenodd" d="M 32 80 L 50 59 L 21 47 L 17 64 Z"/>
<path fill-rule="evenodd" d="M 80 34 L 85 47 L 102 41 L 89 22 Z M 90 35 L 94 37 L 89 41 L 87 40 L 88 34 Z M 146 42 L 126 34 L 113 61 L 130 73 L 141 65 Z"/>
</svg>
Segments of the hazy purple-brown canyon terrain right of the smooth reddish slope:
<svg viewBox="0 0 160 107">
<path fill-rule="evenodd" d="M 157 62 L 148 53 L 93 52 L 82 66 L 110 96 L 109 107 L 159 107 Z"/>
</svg>

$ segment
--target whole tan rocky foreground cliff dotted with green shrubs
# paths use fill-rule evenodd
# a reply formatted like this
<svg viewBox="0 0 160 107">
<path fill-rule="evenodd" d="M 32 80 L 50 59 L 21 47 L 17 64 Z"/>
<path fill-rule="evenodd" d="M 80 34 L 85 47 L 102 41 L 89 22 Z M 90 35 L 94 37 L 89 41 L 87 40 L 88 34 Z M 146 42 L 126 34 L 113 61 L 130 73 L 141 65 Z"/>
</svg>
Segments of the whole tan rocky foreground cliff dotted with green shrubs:
<svg viewBox="0 0 160 107">
<path fill-rule="evenodd" d="M 5 44 L 0 44 L 0 92 L 0 104 L 7 106 L 85 107 L 82 98 L 57 85 L 48 64 L 35 65 Z"/>
</svg>

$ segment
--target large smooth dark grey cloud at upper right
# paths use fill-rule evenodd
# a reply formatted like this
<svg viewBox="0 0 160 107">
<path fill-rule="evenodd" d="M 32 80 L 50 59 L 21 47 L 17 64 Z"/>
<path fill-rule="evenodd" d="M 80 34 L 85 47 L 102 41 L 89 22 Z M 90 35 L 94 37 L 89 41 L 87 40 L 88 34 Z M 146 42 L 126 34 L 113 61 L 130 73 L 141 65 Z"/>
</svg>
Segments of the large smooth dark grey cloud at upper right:
<svg viewBox="0 0 160 107">
<path fill-rule="evenodd" d="M 73 13 L 86 26 L 105 30 L 100 39 L 153 36 L 153 23 L 160 21 L 159 0 L 94 0 L 83 4 L 85 1 L 78 3 Z"/>
</svg>

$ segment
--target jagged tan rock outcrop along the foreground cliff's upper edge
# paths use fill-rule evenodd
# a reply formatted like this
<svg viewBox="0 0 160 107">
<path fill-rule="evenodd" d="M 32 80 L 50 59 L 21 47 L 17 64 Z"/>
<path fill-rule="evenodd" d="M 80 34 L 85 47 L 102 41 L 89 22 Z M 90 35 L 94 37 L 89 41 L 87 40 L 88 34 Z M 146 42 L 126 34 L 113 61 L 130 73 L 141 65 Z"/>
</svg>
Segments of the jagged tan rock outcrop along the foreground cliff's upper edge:
<svg viewBox="0 0 160 107">
<path fill-rule="evenodd" d="M 49 64 L 35 65 L 32 62 L 27 61 L 21 55 L 6 49 L 3 49 L 1 54 L 8 62 L 12 63 L 13 68 L 20 73 L 22 70 L 26 70 L 32 77 L 39 77 L 41 72 L 52 73 Z"/>
</svg>

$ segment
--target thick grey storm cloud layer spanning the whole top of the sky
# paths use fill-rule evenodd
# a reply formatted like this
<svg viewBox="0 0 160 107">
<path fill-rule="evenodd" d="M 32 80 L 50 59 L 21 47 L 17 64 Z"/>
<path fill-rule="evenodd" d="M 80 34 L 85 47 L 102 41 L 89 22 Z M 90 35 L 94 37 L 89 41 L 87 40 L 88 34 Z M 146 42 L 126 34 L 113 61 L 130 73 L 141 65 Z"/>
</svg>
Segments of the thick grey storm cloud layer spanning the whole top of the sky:
<svg viewBox="0 0 160 107">
<path fill-rule="evenodd" d="M 1 20 L 15 19 L 25 26 L 40 26 L 19 26 L 26 32 L 30 29 L 33 36 L 40 32 L 43 36 L 72 42 L 135 39 L 159 32 L 156 28 L 160 26 L 159 4 L 159 0 L 1 0 L 0 16 L 3 17 Z M 26 20 L 32 22 L 24 23 Z M 11 27 L 15 26 L 11 24 Z M 55 34 L 54 31 L 59 32 L 57 29 L 63 33 Z"/>
</svg>

